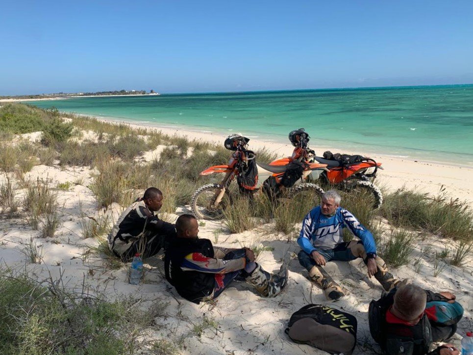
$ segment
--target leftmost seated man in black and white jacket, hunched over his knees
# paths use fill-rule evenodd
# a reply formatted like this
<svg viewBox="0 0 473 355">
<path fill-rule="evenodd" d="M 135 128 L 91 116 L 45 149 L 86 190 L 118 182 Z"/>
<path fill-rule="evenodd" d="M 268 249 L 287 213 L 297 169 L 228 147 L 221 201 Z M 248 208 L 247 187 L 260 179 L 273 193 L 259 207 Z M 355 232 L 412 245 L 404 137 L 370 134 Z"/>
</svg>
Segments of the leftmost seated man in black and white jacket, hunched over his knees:
<svg viewBox="0 0 473 355">
<path fill-rule="evenodd" d="M 154 213 L 163 205 L 163 194 L 149 188 L 118 218 L 108 235 L 108 246 L 124 261 L 136 253 L 143 259 L 155 255 L 175 237 L 174 224 L 160 220 Z"/>
</svg>

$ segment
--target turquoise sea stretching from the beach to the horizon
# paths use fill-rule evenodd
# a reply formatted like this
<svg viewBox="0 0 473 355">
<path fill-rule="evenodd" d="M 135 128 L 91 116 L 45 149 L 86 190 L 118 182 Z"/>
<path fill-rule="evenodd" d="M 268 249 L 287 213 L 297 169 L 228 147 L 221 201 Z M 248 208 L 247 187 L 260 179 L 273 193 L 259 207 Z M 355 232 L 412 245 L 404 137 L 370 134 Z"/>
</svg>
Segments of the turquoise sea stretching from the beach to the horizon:
<svg viewBox="0 0 473 355">
<path fill-rule="evenodd" d="M 34 101 L 61 111 L 200 132 L 473 166 L 473 84 Z M 319 155 L 323 152 L 317 151 Z"/>
</svg>

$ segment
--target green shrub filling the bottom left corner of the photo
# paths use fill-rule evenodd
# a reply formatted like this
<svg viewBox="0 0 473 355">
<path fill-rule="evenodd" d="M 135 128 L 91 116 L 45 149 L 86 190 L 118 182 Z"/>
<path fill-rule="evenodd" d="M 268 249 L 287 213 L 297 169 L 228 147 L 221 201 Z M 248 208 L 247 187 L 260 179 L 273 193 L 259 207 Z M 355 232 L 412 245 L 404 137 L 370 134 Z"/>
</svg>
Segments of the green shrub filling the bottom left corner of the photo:
<svg viewBox="0 0 473 355">
<path fill-rule="evenodd" d="M 23 275 L 1 275 L 0 353 L 132 354 L 156 316 L 140 310 L 139 303 L 77 297 Z"/>
</svg>

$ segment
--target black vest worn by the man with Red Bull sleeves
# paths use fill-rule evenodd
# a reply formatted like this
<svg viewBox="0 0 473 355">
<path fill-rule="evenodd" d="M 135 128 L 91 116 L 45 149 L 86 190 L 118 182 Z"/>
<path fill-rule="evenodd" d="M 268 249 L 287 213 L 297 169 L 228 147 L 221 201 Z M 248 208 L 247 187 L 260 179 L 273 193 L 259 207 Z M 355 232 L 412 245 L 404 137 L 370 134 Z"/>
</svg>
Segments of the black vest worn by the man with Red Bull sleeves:
<svg viewBox="0 0 473 355">
<path fill-rule="evenodd" d="M 202 298 L 212 294 L 215 274 L 181 270 L 184 258 L 190 253 L 214 257 L 214 249 L 208 239 L 174 238 L 164 256 L 165 274 L 168 282 L 175 287 L 181 297 L 199 303 Z"/>
</svg>

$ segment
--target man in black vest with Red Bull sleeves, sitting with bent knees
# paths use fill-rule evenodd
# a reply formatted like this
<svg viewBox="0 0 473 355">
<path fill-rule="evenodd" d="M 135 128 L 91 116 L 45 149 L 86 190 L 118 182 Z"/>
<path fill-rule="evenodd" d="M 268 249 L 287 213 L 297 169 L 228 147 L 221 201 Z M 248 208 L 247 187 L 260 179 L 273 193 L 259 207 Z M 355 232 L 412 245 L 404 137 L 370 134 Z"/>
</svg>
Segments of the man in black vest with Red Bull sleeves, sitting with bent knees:
<svg viewBox="0 0 473 355">
<path fill-rule="evenodd" d="M 251 249 L 212 246 L 208 239 L 199 239 L 199 224 L 194 216 L 179 216 L 176 230 L 177 237 L 166 249 L 165 273 L 186 300 L 199 303 L 215 299 L 234 279 L 245 280 L 263 297 L 274 297 L 286 286 L 284 265 L 278 274 L 271 275 L 255 263 Z"/>
</svg>

